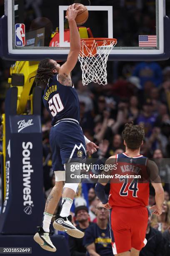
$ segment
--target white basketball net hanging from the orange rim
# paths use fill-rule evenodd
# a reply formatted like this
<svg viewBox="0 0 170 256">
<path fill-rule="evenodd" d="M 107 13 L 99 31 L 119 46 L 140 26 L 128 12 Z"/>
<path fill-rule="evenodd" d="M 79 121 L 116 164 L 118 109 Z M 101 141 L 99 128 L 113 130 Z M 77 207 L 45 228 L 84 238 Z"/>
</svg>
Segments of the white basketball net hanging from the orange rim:
<svg viewBox="0 0 170 256">
<path fill-rule="evenodd" d="M 109 43 L 108 40 L 98 43 L 95 39 L 92 44 L 89 44 L 88 41 L 81 41 L 82 47 L 78 59 L 82 69 L 83 85 L 90 82 L 107 84 L 107 59 L 116 43 L 115 39 L 110 39 Z"/>
</svg>

